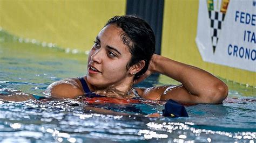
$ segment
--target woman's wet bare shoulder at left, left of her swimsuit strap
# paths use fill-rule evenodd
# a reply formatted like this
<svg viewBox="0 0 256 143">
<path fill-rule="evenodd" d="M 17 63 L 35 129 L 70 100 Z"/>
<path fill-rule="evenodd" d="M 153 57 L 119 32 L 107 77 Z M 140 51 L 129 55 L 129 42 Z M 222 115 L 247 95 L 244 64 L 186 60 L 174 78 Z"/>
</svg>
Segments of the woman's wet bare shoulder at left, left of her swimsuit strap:
<svg viewBox="0 0 256 143">
<path fill-rule="evenodd" d="M 73 77 L 51 83 L 45 90 L 45 94 L 57 98 L 77 98 L 84 93 L 80 88 L 79 79 Z"/>
</svg>

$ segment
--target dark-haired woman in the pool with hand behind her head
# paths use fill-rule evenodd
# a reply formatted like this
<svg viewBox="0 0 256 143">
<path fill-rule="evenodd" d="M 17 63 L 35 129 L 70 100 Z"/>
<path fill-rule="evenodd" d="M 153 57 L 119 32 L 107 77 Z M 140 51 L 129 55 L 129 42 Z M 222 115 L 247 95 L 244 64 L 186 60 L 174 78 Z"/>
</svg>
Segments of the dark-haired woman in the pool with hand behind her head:
<svg viewBox="0 0 256 143">
<path fill-rule="evenodd" d="M 88 56 L 87 73 L 49 85 L 52 97 L 78 98 L 95 92 L 117 98 L 173 99 L 179 103 L 221 103 L 227 85 L 202 69 L 154 54 L 154 33 L 144 20 L 134 16 L 111 18 L 96 37 Z M 134 83 L 160 73 L 181 85 L 133 88 Z"/>
</svg>

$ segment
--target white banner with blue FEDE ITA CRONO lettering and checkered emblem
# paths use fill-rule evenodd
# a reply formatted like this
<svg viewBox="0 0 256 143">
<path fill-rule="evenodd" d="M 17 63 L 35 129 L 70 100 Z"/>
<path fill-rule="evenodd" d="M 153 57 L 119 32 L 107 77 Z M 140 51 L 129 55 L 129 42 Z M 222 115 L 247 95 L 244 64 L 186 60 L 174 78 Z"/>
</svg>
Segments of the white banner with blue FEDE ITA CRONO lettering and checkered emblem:
<svg viewBox="0 0 256 143">
<path fill-rule="evenodd" d="M 196 42 L 204 61 L 256 72 L 256 0 L 200 0 Z"/>
</svg>

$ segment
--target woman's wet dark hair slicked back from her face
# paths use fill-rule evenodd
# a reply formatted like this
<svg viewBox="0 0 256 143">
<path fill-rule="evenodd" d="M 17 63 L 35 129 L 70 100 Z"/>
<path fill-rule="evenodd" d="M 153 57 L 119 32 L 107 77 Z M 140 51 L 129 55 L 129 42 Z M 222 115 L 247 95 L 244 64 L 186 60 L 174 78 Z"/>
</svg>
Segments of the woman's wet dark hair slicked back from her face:
<svg viewBox="0 0 256 143">
<path fill-rule="evenodd" d="M 129 47 L 129 51 L 132 55 L 127 69 L 139 61 L 145 61 L 143 69 L 135 74 L 134 79 L 136 79 L 146 72 L 149 67 L 150 59 L 156 49 L 154 32 L 149 24 L 136 16 L 114 16 L 109 19 L 105 26 L 110 24 L 115 24 L 123 30 L 120 36 L 124 44 Z"/>
</svg>

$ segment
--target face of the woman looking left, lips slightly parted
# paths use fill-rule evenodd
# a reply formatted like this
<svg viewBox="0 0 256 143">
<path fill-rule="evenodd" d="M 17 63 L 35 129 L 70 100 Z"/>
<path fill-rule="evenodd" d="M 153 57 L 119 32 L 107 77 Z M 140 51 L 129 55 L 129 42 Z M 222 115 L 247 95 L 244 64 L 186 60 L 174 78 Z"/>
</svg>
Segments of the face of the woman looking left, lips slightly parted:
<svg viewBox="0 0 256 143">
<path fill-rule="evenodd" d="M 129 76 L 126 69 L 131 59 L 129 48 L 120 35 L 123 32 L 116 25 L 105 26 L 97 35 L 87 66 L 87 82 L 96 87 L 122 86 Z"/>
</svg>

